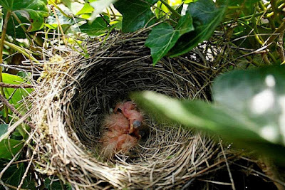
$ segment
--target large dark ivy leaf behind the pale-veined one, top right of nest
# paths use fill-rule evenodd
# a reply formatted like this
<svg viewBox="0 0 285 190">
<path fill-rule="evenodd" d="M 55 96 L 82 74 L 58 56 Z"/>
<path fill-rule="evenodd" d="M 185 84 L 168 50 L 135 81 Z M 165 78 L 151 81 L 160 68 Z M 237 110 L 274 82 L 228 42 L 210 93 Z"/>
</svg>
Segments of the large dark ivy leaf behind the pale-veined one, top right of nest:
<svg viewBox="0 0 285 190">
<path fill-rule="evenodd" d="M 226 6 L 215 6 L 212 0 L 199 0 L 189 4 L 187 13 L 193 18 L 194 31 L 185 33 L 170 50 L 169 56 L 180 56 L 207 40 L 222 21 Z"/>
</svg>

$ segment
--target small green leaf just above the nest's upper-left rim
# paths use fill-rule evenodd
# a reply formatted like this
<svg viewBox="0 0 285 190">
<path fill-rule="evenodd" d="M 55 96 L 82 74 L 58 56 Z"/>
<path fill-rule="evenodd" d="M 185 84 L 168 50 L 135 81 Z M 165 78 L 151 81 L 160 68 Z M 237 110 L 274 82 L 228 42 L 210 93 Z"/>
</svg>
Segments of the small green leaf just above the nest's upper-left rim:
<svg viewBox="0 0 285 190">
<path fill-rule="evenodd" d="M 81 32 L 87 33 L 89 36 L 99 36 L 109 30 L 108 23 L 110 19 L 108 16 L 98 17 L 93 23 L 85 23 L 79 28 Z"/>
</svg>

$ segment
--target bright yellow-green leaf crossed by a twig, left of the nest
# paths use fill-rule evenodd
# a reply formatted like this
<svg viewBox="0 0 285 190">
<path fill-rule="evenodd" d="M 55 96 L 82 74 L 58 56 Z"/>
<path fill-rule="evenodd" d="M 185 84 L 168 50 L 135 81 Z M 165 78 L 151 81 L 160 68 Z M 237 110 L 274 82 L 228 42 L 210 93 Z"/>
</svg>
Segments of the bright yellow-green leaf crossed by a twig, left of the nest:
<svg viewBox="0 0 285 190">
<path fill-rule="evenodd" d="M 21 84 L 24 82 L 23 78 L 19 77 L 18 75 L 11 75 L 8 73 L 2 73 L 3 82 L 7 84 Z M 14 92 L 15 91 L 15 92 Z M 14 107 L 19 107 L 19 101 L 23 99 L 28 93 L 31 93 L 32 89 L 27 88 L 25 89 L 15 89 L 15 88 L 4 88 L 4 93 L 7 99 L 11 97 L 9 102 L 14 105 Z"/>
</svg>

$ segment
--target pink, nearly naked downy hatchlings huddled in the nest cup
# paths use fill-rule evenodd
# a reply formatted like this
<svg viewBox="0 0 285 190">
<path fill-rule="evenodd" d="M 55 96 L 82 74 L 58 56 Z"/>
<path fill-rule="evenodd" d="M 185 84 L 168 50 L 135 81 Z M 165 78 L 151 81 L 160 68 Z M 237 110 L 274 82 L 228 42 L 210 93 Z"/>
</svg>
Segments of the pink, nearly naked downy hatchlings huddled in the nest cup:
<svg viewBox="0 0 285 190">
<path fill-rule="evenodd" d="M 118 103 L 114 112 L 107 115 L 103 122 L 105 130 L 100 142 L 103 143 L 104 156 L 112 158 L 116 152 L 128 154 L 138 144 L 141 125 L 142 114 L 136 110 L 135 103 Z"/>
</svg>

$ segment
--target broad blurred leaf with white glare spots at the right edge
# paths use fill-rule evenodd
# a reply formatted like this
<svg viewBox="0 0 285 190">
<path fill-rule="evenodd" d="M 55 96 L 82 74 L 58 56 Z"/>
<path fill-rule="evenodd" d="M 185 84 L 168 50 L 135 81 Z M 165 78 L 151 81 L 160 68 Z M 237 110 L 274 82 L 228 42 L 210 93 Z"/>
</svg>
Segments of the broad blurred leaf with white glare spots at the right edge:
<svg viewBox="0 0 285 190">
<path fill-rule="evenodd" d="M 214 100 L 244 114 L 266 140 L 285 145 L 285 66 L 234 70 L 213 85 Z"/>
</svg>

